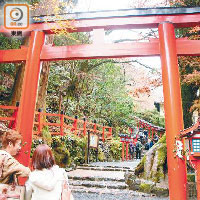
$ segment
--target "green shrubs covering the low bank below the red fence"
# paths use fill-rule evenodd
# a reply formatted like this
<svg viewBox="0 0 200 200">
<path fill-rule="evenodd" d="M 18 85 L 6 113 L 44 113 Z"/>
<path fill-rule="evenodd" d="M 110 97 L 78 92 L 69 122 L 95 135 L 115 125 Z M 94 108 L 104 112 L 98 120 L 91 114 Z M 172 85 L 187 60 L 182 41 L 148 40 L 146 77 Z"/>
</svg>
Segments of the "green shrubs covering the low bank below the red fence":
<svg viewBox="0 0 200 200">
<path fill-rule="evenodd" d="M 33 140 L 32 150 L 37 145 L 47 143 L 52 147 L 56 163 L 60 167 L 70 165 L 80 165 L 85 163 L 87 156 L 87 137 L 80 138 L 75 135 L 53 136 L 49 138 L 48 130 L 45 130 L 43 139 Z M 103 143 L 99 141 L 98 160 L 112 161 L 120 160 L 121 158 L 121 143 L 119 139 L 113 139 Z M 31 154 L 32 155 L 32 154 Z M 96 149 L 90 149 L 90 162 L 96 161 Z"/>
</svg>

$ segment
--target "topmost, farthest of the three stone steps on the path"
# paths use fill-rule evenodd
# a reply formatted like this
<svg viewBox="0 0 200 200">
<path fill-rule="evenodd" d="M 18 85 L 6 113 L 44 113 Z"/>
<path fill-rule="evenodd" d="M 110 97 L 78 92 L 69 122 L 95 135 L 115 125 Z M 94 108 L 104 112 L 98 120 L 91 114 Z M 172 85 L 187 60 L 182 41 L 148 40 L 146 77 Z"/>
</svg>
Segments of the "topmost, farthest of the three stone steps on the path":
<svg viewBox="0 0 200 200">
<path fill-rule="evenodd" d="M 133 172 L 134 170 L 126 167 L 99 167 L 99 166 L 78 166 L 77 169 L 84 169 L 84 170 L 96 170 L 96 171 L 122 171 L 122 172 Z"/>
</svg>

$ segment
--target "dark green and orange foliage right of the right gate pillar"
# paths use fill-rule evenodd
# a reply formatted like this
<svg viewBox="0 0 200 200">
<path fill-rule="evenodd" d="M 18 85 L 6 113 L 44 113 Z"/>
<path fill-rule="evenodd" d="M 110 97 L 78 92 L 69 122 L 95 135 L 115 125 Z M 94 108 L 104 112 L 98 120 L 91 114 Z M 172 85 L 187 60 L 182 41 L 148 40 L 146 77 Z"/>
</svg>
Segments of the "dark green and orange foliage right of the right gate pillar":
<svg viewBox="0 0 200 200">
<path fill-rule="evenodd" d="M 199 0 L 177 0 L 172 6 L 175 7 L 196 7 L 200 6 Z M 195 28 L 176 29 L 177 37 L 187 37 L 192 40 L 199 40 L 199 30 Z M 183 117 L 185 128 L 192 125 L 192 113 L 200 110 L 200 100 L 197 91 L 200 86 L 200 57 L 181 56 L 179 57 L 179 69 L 181 74 L 181 92 L 183 102 Z"/>
</svg>

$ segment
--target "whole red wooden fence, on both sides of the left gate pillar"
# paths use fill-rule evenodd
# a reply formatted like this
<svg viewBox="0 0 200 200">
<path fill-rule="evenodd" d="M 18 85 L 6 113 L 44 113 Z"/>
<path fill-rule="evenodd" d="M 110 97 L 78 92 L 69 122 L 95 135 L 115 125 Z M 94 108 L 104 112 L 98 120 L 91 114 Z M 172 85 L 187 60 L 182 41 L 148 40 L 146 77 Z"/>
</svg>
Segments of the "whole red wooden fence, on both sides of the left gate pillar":
<svg viewBox="0 0 200 200">
<path fill-rule="evenodd" d="M 0 105 L 0 121 L 6 123 L 9 128 L 16 128 L 18 106 Z M 87 135 L 87 131 L 97 134 L 99 139 L 105 142 L 112 139 L 112 127 L 89 122 L 85 118 L 83 120 L 69 117 L 67 115 L 45 113 L 35 111 L 35 119 L 33 126 L 33 134 L 41 136 L 42 129 L 48 126 L 51 135 L 77 135 L 83 137 Z"/>
</svg>

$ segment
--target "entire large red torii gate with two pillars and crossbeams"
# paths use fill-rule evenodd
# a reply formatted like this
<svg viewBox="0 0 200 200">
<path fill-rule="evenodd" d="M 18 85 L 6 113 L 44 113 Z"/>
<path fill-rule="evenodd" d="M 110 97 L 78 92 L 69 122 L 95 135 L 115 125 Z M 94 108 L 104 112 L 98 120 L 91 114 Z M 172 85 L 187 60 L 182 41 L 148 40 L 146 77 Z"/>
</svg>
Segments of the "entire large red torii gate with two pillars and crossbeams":
<svg viewBox="0 0 200 200">
<path fill-rule="evenodd" d="M 200 8 L 134 9 L 116 12 L 79 13 L 71 32 L 93 31 L 93 44 L 55 47 L 44 45 L 45 34 L 52 34 L 46 23 L 33 23 L 28 31 L 28 47 L 0 50 L 0 62 L 26 62 L 17 128 L 23 136 L 19 160 L 29 164 L 40 62 L 95 58 L 161 56 L 167 135 L 167 159 L 171 200 L 186 200 L 185 161 L 174 157 L 175 137 L 183 129 L 182 103 L 177 56 L 200 55 L 200 41 L 176 39 L 174 28 L 200 24 Z M 72 18 L 75 18 L 72 17 Z M 57 26 L 54 22 L 51 24 Z M 130 28 L 158 28 L 159 39 L 123 44 L 104 43 L 104 31 Z M 5 32 L 4 27 L 0 27 Z"/>
</svg>

